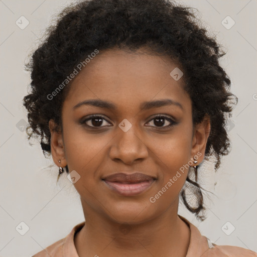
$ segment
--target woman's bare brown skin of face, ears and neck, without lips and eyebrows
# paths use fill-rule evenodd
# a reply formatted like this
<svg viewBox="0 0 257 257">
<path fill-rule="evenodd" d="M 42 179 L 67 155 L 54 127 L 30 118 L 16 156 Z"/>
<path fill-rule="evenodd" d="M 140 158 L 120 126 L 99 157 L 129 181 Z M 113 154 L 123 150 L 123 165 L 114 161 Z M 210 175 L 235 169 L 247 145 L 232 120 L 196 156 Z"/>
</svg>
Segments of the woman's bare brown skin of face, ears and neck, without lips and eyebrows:
<svg viewBox="0 0 257 257">
<path fill-rule="evenodd" d="M 86 220 L 74 239 L 80 257 L 186 256 L 190 230 L 177 212 L 188 170 L 155 203 L 149 200 L 197 153 L 201 153 L 198 164 L 203 161 L 210 131 L 208 117 L 193 127 L 191 99 L 183 80 L 170 76 L 175 67 L 168 57 L 104 51 L 73 79 L 63 104 L 62 133 L 52 129 L 50 120 L 55 164 L 68 165 L 70 172 L 81 176 L 74 184 Z M 110 101 L 117 108 L 81 105 L 73 110 L 88 99 Z M 172 104 L 141 110 L 142 102 L 159 99 L 172 99 L 183 109 Z M 106 119 L 95 130 L 80 124 L 91 114 Z M 159 125 L 153 119 L 159 114 L 178 123 L 162 129 L 170 121 Z M 123 119 L 132 124 L 127 132 L 118 126 Z M 86 124 L 93 126 L 92 121 Z M 140 195 L 120 196 L 101 178 L 122 171 L 157 180 Z"/>
</svg>

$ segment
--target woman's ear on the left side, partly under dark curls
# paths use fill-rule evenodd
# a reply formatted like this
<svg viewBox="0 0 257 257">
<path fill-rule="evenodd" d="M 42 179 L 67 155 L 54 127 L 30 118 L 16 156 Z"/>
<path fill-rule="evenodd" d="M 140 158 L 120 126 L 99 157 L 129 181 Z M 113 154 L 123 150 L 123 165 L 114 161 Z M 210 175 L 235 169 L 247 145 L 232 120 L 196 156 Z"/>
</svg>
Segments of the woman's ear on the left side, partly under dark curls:
<svg viewBox="0 0 257 257">
<path fill-rule="evenodd" d="M 48 125 L 51 132 L 51 154 L 53 161 L 58 167 L 65 167 L 67 165 L 67 161 L 65 158 L 62 133 L 56 131 L 56 124 L 52 119 L 49 120 Z M 59 163 L 59 160 L 61 163 Z"/>
</svg>

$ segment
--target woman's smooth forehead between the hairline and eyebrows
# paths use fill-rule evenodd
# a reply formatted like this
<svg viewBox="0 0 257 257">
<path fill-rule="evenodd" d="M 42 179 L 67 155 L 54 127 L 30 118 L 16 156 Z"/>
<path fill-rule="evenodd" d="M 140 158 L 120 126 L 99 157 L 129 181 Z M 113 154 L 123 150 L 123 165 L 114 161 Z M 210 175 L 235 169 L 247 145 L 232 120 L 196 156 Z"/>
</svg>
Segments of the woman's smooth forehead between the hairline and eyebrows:
<svg viewBox="0 0 257 257">
<path fill-rule="evenodd" d="M 65 104 L 98 98 L 119 108 L 139 108 L 145 101 L 170 98 L 189 105 L 183 77 L 176 81 L 170 75 L 175 68 L 178 65 L 168 57 L 107 50 L 92 58 L 72 80 Z"/>
</svg>

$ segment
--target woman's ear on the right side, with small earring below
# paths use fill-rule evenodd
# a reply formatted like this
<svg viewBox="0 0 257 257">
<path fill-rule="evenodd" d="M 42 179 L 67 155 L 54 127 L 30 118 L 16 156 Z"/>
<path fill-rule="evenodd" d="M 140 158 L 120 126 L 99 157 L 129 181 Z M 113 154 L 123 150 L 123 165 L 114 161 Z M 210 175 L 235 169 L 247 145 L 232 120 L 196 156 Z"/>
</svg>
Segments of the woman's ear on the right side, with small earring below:
<svg viewBox="0 0 257 257">
<path fill-rule="evenodd" d="M 210 129 L 210 117 L 208 114 L 204 116 L 202 122 L 196 124 L 194 127 L 191 158 L 198 156 L 198 164 L 200 164 L 204 159 L 206 144 L 210 135 Z"/>
</svg>

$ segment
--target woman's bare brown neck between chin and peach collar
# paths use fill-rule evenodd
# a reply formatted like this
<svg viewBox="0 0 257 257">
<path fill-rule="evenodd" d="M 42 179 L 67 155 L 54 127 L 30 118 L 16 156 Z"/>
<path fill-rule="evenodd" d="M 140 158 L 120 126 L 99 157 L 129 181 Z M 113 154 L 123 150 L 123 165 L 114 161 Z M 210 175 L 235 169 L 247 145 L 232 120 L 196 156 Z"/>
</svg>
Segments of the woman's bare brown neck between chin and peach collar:
<svg viewBox="0 0 257 257">
<path fill-rule="evenodd" d="M 83 205 L 83 204 L 82 204 Z M 85 214 L 85 208 L 83 208 Z M 167 210 L 140 224 L 120 224 L 86 210 L 85 226 L 74 238 L 80 257 L 181 256 L 186 257 L 190 229 L 177 211 Z"/>
</svg>

